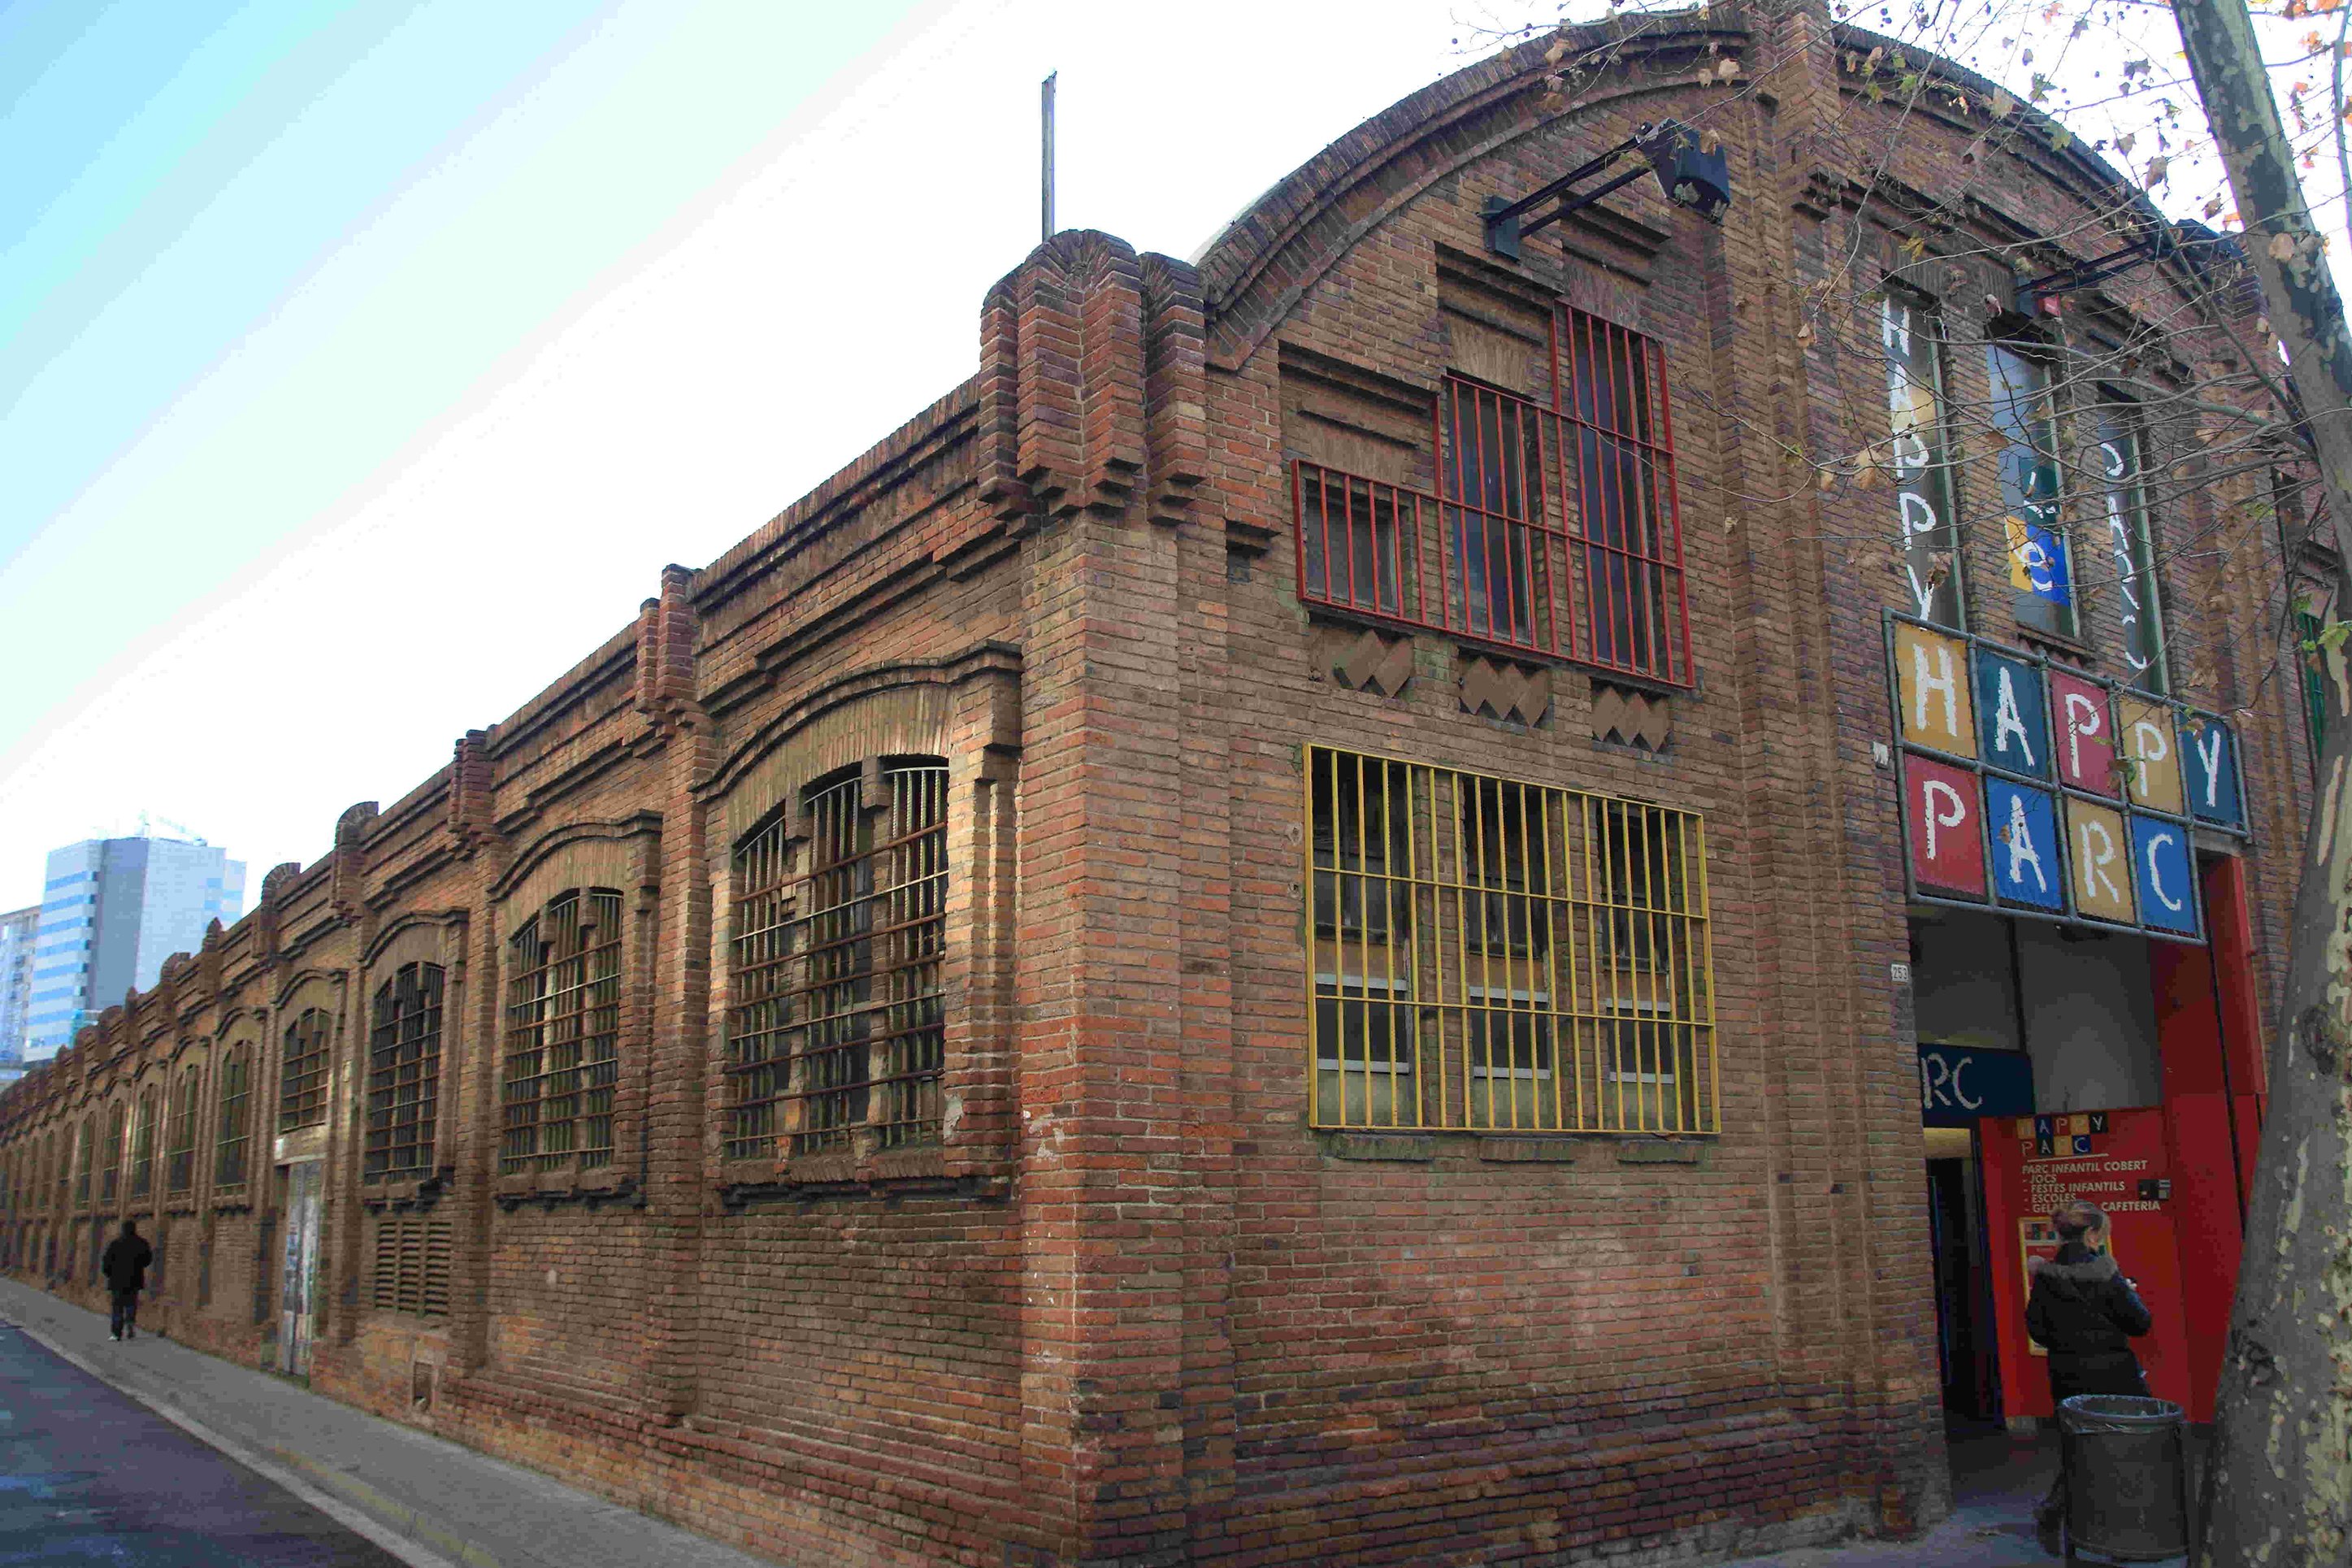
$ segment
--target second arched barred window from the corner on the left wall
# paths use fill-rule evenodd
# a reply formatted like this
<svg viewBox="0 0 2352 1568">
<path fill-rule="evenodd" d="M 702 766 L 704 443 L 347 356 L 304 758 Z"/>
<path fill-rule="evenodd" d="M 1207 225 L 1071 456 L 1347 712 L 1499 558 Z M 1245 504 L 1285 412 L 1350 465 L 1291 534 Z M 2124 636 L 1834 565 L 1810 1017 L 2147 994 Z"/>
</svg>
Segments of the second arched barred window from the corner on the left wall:
<svg viewBox="0 0 2352 1568">
<path fill-rule="evenodd" d="M 612 1164 L 621 1081 L 621 893 L 557 893 L 508 947 L 499 1168 Z"/>
</svg>

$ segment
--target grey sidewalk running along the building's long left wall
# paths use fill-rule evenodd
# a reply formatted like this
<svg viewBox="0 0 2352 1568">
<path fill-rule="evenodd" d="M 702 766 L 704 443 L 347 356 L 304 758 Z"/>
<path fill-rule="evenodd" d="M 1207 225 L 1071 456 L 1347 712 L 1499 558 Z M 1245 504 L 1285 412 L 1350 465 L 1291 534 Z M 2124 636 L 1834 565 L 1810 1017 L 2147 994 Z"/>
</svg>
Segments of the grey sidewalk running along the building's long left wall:
<svg viewBox="0 0 2352 1568">
<path fill-rule="evenodd" d="M 12 1279 L 0 1279 L 0 1321 L 353 1528 L 365 1521 L 414 1568 L 776 1568 L 186 1345 L 115 1345 L 96 1312 Z"/>
</svg>

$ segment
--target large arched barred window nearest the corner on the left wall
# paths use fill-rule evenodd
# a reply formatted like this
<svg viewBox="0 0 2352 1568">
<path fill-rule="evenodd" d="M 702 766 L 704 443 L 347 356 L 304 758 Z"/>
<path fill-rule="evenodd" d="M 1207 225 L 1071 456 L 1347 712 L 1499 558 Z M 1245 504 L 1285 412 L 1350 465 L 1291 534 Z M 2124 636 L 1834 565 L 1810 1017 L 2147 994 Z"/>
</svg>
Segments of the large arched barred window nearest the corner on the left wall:
<svg viewBox="0 0 2352 1568">
<path fill-rule="evenodd" d="M 946 1065 L 948 769 L 809 790 L 736 849 L 727 1157 L 938 1140 Z M 797 858 L 797 865 L 795 865 Z"/>
</svg>

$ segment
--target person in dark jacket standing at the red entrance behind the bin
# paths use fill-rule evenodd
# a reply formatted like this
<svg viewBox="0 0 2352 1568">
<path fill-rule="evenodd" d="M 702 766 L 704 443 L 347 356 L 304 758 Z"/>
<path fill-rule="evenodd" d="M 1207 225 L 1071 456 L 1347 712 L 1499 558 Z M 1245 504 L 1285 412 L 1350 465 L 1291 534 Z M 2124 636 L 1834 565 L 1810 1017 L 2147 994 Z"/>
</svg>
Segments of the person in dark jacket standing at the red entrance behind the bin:
<svg viewBox="0 0 2352 1568">
<path fill-rule="evenodd" d="M 2030 1265 L 2032 1295 L 2025 1302 L 2025 1333 L 2051 1361 L 2051 1406 L 2077 1394 L 2147 1396 L 2147 1375 L 2131 1342 L 2154 1326 L 2136 1281 L 2114 1267 L 2107 1251 L 2107 1215 L 2096 1204 L 2074 1199 L 2051 1215 L 2058 1227 L 2058 1255 Z M 2063 1549 L 2067 1474 L 2058 1467 L 2049 1495 L 2034 1509 L 2034 1533 L 2051 1554 Z"/>
</svg>

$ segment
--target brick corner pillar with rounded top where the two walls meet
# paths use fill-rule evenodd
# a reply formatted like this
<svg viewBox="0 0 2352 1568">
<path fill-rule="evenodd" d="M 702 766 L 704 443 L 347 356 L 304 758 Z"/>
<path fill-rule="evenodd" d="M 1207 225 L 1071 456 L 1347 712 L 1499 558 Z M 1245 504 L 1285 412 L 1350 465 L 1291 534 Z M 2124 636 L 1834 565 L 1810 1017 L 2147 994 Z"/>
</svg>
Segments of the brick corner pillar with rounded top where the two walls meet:
<svg viewBox="0 0 2352 1568">
<path fill-rule="evenodd" d="M 1195 1058 L 1230 1058 L 1230 1032 L 1188 1034 L 1185 999 L 1200 315 L 1190 268 L 1087 230 L 1033 252 L 983 310 L 981 487 L 1018 520 L 1025 597 L 1014 985 L 1035 1512 L 1016 1535 L 1065 1568 L 1188 1552 L 1183 1389 L 1204 1349 L 1185 1084 Z M 1200 924 L 1223 940 L 1214 914 Z"/>
</svg>

